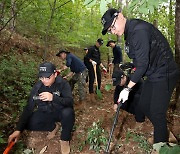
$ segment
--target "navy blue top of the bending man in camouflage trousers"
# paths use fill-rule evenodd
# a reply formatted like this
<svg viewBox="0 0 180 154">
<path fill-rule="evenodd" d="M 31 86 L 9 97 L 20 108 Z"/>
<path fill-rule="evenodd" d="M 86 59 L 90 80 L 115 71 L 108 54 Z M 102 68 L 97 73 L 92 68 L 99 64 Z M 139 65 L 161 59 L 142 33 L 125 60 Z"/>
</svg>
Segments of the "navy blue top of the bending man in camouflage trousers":
<svg viewBox="0 0 180 154">
<path fill-rule="evenodd" d="M 71 72 L 81 73 L 86 69 L 86 66 L 78 57 L 72 53 L 67 53 L 66 66 L 70 67 Z"/>
</svg>

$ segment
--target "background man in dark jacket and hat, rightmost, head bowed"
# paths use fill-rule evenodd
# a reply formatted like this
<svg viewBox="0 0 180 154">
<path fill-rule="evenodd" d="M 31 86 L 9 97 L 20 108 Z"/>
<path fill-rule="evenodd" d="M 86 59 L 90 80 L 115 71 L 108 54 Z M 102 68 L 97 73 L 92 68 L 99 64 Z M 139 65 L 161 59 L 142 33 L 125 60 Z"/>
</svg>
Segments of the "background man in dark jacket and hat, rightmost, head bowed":
<svg viewBox="0 0 180 154">
<path fill-rule="evenodd" d="M 108 41 L 108 43 L 106 45 L 107 47 L 111 47 L 113 49 L 113 56 L 114 56 L 114 59 L 112 61 L 112 63 L 114 64 L 113 72 L 115 70 L 118 70 L 119 64 L 122 63 L 122 50 L 121 50 L 120 46 L 116 45 L 115 43 L 116 43 L 115 41 L 110 40 L 110 41 Z M 110 63 L 110 65 L 111 65 L 111 63 Z"/>
</svg>

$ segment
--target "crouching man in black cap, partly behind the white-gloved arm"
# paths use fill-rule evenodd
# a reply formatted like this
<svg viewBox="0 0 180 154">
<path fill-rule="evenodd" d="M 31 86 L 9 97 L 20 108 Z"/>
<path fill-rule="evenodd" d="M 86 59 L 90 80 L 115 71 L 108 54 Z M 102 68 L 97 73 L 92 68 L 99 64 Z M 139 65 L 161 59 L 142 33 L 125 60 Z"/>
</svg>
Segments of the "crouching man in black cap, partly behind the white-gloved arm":
<svg viewBox="0 0 180 154">
<path fill-rule="evenodd" d="M 112 74 L 113 86 L 116 86 L 114 91 L 114 111 L 117 110 L 118 107 L 118 98 L 120 92 L 127 86 L 130 81 L 130 76 L 124 74 L 122 70 L 116 70 Z M 134 114 L 137 122 L 144 122 L 145 115 L 141 111 L 139 107 L 139 100 L 141 95 L 141 90 L 143 86 L 143 80 L 141 79 L 133 88 L 133 90 L 129 94 L 129 99 L 125 101 L 121 109 Z"/>
</svg>

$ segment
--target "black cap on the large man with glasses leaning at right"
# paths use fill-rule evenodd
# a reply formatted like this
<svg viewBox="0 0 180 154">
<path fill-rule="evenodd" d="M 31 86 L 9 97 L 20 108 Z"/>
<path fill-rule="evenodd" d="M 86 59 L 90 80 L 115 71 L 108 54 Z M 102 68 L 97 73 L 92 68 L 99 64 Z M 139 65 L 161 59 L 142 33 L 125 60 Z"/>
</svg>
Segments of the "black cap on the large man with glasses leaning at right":
<svg viewBox="0 0 180 154">
<path fill-rule="evenodd" d="M 104 13 L 104 15 L 101 18 L 101 23 L 103 25 L 103 30 L 102 30 L 103 35 L 107 33 L 108 28 L 112 25 L 114 18 L 118 16 L 119 12 L 120 11 L 116 9 L 110 8 Z"/>
</svg>

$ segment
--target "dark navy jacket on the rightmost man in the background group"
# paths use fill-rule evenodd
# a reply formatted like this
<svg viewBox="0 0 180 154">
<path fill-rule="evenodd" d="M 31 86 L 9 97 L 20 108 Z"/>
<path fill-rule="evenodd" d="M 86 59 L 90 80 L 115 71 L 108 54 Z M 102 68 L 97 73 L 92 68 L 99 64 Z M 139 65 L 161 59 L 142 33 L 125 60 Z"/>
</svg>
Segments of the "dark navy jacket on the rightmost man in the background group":
<svg viewBox="0 0 180 154">
<path fill-rule="evenodd" d="M 122 62 L 122 51 L 121 48 L 117 45 L 115 45 L 115 47 L 113 48 L 113 56 L 113 64 L 120 64 Z"/>
</svg>

